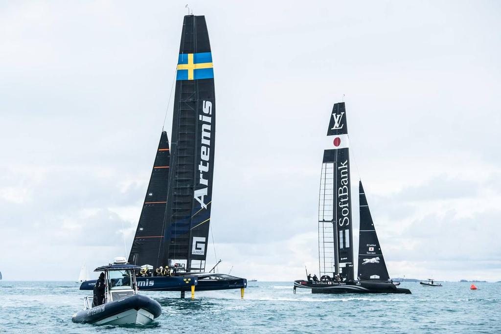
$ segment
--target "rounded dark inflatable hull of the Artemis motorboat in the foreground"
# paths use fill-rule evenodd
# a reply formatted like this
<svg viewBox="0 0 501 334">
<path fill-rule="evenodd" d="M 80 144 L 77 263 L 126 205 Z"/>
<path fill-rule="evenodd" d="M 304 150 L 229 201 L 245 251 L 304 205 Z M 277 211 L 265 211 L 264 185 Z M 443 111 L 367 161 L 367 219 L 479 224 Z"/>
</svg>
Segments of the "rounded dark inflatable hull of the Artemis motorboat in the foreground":
<svg viewBox="0 0 501 334">
<path fill-rule="evenodd" d="M 160 304 L 149 297 L 135 294 L 120 300 L 84 309 L 73 315 L 73 322 L 93 324 L 150 324 L 162 313 Z"/>
</svg>

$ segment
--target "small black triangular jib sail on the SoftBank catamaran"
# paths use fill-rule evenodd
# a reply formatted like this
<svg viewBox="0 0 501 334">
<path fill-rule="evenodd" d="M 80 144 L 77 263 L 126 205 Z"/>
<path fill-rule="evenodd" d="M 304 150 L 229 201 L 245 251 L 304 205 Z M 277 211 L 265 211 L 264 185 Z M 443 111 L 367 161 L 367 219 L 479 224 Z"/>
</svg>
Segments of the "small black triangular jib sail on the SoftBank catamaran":
<svg viewBox="0 0 501 334">
<path fill-rule="evenodd" d="M 359 183 L 360 193 L 360 240 L 358 246 L 358 279 L 389 280 L 388 269 L 384 262 L 381 245 L 372 221 L 371 212 L 365 197 L 362 181 Z"/>
</svg>

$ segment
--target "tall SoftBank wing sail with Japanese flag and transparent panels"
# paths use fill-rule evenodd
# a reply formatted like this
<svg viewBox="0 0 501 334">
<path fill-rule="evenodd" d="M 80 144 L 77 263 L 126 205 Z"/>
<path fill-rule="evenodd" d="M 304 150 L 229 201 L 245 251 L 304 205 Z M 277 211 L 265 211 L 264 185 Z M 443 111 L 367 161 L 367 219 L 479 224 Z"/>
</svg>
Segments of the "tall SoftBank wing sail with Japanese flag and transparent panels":
<svg viewBox="0 0 501 334">
<path fill-rule="evenodd" d="M 336 103 L 327 130 L 319 203 L 320 274 L 353 279 L 350 157 L 345 104 Z"/>
</svg>

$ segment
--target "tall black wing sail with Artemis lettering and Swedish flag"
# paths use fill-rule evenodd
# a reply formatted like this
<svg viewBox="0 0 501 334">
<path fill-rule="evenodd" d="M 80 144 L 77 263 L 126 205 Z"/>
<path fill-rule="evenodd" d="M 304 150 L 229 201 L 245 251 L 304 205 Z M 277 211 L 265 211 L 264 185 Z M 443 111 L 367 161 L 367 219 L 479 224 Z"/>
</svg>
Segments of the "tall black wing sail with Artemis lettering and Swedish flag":
<svg viewBox="0 0 501 334">
<path fill-rule="evenodd" d="M 185 16 L 176 74 L 164 261 L 203 271 L 214 168 L 215 101 L 205 17 Z"/>
</svg>

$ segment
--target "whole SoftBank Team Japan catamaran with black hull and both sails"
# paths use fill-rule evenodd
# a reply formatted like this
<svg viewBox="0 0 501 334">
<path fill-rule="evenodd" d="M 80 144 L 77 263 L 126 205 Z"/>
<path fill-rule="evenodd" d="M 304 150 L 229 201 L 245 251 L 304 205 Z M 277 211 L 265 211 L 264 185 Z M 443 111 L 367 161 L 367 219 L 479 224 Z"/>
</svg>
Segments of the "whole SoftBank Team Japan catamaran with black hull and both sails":
<svg viewBox="0 0 501 334">
<path fill-rule="evenodd" d="M 359 182 L 358 279 L 353 268 L 353 220 L 348 128 L 344 103 L 336 103 L 327 130 L 319 203 L 320 279 L 296 280 L 312 293 L 411 293 L 390 280 L 362 182 Z"/>
</svg>

